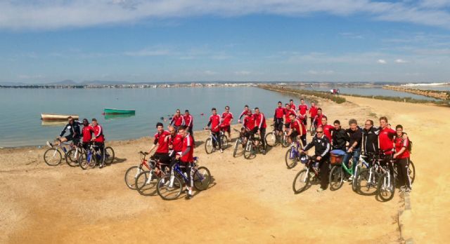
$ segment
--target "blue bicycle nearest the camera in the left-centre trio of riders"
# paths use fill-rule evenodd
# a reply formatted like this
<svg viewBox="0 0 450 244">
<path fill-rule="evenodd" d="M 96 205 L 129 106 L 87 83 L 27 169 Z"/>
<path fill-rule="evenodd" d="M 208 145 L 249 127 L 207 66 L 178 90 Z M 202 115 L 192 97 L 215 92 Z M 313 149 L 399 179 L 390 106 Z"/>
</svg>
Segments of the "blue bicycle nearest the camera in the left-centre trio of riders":
<svg viewBox="0 0 450 244">
<path fill-rule="evenodd" d="M 194 187 L 198 191 L 203 191 L 210 185 L 211 173 L 206 167 L 198 167 L 198 157 L 194 157 L 193 159 L 194 166 L 192 168 L 192 175 Z M 181 179 L 184 180 L 184 183 L 181 182 Z M 176 162 L 172 172 L 158 180 L 156 191 L 162 199 L 174 200 L 180 196 L 183 191 L 183 186 L 187 182 L 188 176 L 181 170 L 179 162 Z"/>
</svg>

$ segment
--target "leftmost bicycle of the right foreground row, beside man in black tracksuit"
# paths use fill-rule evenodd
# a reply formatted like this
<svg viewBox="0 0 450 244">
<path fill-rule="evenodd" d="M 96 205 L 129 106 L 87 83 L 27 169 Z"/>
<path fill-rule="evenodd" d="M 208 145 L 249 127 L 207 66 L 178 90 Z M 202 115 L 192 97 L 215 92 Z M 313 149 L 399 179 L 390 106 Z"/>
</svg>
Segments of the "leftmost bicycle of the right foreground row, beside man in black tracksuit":
<svg viewBox="0 0 450 244">
<path fill-rule="evenodd" d="M 304 168 L 295 175 L 293 182 L 293 191 L 295 194 L 300 194 L 306 190 L 310 182 L 319 182 L 320 180 L 319 161 L 316 160 L 316 157 L 302 153 L 300 159 L 304 163 Z"/>
</svg>

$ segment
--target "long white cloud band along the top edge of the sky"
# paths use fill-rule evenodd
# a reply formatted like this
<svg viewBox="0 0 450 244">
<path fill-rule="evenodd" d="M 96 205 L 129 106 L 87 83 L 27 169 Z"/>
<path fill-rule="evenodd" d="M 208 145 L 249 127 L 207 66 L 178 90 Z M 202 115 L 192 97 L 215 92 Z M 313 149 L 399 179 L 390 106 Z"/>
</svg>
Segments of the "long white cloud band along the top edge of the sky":
<svg viewBox="0 0 450 244">
<path fill-rule="evenodd" d="M 178 19 L 199 15 L 271 14 L 304 16 L 311 13 L 367 15 L 375 20 L 412 22 L 450 28 L 449 1 L 375 0 L 35 0 L 1 1 L 0 29 L 60 29 L 139 21 Z"/>
</svg>

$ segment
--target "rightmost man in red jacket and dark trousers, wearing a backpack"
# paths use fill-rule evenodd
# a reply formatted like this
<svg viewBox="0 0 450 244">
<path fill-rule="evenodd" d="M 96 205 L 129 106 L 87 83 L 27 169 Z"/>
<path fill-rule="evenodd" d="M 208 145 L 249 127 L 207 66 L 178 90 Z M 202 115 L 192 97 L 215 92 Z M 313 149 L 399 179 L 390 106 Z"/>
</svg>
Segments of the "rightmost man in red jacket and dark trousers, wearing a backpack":
<svg viewBox="0 0 450 244">
<path fill-rule="evenodd" d="M 401 191 L 411 191 L 411 179 L 409 179 L 409 154 L 411 152 L 411 142 L 403 132 L 403 126 L 397 125 L 395 127 L 396 135 L 394 137 L 395 154 L 397 159 L 397 177 Z"/>
</svg>

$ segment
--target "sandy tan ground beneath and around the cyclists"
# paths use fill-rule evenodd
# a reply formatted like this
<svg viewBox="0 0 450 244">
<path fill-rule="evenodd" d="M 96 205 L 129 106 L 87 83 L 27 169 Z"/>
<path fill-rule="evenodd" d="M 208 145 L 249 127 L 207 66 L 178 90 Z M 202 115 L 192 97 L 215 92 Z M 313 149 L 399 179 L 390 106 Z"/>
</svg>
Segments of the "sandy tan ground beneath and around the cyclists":
<svg viewBox="0 0 450 244">
<path fill-rule="evenodd" d="M 197 132 L 195 156 L 214 180 L 190 201 L 141 196 L 125 185 L 124 172 L 139 163 L 137 153 L 148 150 L 150 137 L 108 142 L 117 160 L 94 170 L 65 163 L 50 167 L 42 158 L 45 147 L 0 149 L 0 243 L 401 243 L 401 237 L 442 243 L 450 238 L 445 183 L 450 132 L 442 129 L 450 126 L 449 108 L 346 99 L 319 104 L 330 123 L 339 119 L 347 127 L 349 118 L 356 118 L 361 126 L 366 118 L 376 124 L 387 116 L 393 126 L 401 123 L 414 143 L 417 176 L 411 211 L 401 215 L 402 233 L 398 211 L 404 201 L 398 191 L 387 203 L 355 194 L 349 184 L 322 193 L 314 185 L 295 195 L 292 182 L 301 168 L 285 168 L 287 149 L 274 147 L 251 161 L 233 158 L 231 146 L 224 154 L 207 155 L 207 133 Z"/>
</svg>

